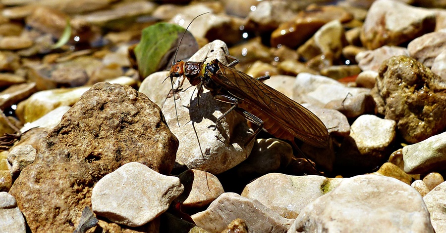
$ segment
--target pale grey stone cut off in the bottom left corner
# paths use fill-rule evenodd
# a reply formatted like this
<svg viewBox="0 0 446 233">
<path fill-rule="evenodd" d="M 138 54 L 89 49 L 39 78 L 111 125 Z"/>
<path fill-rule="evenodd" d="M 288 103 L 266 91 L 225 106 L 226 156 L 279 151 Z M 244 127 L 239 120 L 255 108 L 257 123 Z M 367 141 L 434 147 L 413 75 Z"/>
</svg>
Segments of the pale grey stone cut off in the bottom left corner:
<svg viewBox="0 0 446 233">
<path fill-rule="evenodd" d="M 17 207 L 13 196 L 0 192 L 0 231 L 25 233 L 25 219 Z"/>
</svg>

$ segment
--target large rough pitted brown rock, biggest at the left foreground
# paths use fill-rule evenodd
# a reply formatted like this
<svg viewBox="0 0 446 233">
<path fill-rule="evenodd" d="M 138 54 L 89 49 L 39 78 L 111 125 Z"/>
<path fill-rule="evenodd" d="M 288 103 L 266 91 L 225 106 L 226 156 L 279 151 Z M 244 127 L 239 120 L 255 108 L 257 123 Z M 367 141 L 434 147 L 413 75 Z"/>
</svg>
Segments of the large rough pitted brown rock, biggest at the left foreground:
<svg viewBox="0 0 446 233">
<path fill-rule="evenodd" d="M 177 145 L 147 96 L 129 86 L 97 83 L 39 144 L 35 161 L 22 170 L 10 194 L 31 231 L 73 232 L 102 177 L 134 161 L 169 174 Z M 103 220 L 98 225 L 104 231 L 134 230 Z"/>
</svg>

